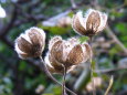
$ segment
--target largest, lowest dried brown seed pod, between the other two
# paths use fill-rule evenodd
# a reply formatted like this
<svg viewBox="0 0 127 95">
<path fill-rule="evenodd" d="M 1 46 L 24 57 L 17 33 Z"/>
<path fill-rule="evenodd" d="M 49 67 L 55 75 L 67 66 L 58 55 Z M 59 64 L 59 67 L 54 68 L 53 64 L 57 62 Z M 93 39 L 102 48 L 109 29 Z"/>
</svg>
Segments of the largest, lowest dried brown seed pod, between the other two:
<svg viewBox="0 0 127 95">
<path fill-rule="evenodd" d="M 91 46 L 86 42 L 80 44 L 75 38 L 65 41 L 61 36 L 54 36 L 50 41 L 45 63 L 54 73 L 62 73 L 63 65 L 68 72 L 80 63 L 86 62 L 91 55 Z"/>
</svg>

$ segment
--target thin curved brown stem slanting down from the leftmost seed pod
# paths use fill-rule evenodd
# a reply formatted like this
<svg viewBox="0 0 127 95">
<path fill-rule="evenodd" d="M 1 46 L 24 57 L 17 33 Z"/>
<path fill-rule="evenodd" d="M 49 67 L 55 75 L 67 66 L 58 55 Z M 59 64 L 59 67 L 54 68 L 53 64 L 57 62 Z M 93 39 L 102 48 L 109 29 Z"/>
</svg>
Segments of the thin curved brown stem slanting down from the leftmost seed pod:
<svg viewBox="0 0 127 95">
<path fill-rule="evenodd" d="M 53 82 L 55 82 L 56 84 L 59 84 L 59 85 L 62 86 L 62 84 L 61 84 L 60 82 L 57 82 L 57 81 L 52 76 L 52 74 L 51 74 L 50 71 L 47 70 L 46 64 L 45 64 L 45 62 L 43 61 L 42 56 L 40 56 L 40 60 L 41 60 L 41 62 L 42 62 L 41 65 L 44 67 L 45 74 L 46 74 Z M 67 92 L 70 92 L 72 95 L 77 95 L 77 94 L 75 94 L 74 92 L 72 92 L 71 89 L 68 89 L 67 87 L 65 87 L 65 89 L 66 89 Z"/>
</svg>

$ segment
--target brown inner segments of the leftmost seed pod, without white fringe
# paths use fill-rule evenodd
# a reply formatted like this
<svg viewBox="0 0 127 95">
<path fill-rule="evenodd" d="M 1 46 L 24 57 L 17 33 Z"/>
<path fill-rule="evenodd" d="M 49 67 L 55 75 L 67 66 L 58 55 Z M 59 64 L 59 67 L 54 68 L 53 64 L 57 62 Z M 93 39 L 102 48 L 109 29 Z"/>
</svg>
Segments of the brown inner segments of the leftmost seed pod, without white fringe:
<svg viewBox="0 0 127 95">
<path fill-rule="evenodd" d="M 32 43 L 28 42 L 22 36 L 17 39 L 19 49 L 25 54 L 21 54 L 22 57 L 38 57 L 42 54 L 43 48 L 43 36 L 41 33 L 34 29 L 29 32 L 29 38 Z"/>
</svg>

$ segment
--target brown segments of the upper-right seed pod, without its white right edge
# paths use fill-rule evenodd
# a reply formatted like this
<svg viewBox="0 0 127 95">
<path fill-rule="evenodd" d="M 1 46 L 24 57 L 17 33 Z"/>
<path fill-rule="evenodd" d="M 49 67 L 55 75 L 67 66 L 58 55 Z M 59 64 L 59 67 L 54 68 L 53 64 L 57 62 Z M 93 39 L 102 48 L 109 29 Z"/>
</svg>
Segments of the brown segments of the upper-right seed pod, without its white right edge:
<svg viewBox="0 0 127 95">
<path fill-rule="evenodd" d="M 83 21 L 85 23 L 85 21 Z M 73 29 L 82 35 L 93 36 L 98 32 L 100 25 L 100 17 L 98 12 L 92 12 L 86 20 L 86 29 L 81 24 L 80 17 L 73 17 Z"/>
</svg>

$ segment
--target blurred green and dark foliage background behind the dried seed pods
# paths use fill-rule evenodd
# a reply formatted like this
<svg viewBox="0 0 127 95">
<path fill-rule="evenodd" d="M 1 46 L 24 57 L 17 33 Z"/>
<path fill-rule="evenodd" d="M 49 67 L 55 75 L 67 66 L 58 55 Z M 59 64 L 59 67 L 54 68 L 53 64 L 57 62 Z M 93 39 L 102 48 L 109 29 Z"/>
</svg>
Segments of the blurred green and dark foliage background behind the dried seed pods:
<svg viewBox="0 0 127 95">
<path fill-rule="evenodd" d="M 97 95 L 104 95 L 110 75 L 114 84 L 109 95 L 127 95 L 127 0 L 0 0 L 6 18 L 0 18 L 0 95 L 61 95 L 61 87 L 41 71 L 38 59 L 22 61 L 14 52 L 15 38 L 30 27 L 44 29 L 49 40 L 80 36 L 71 27 L 78 10 L 100 8 L 108 13 L 108 27 L 93 40 Z M 1 14 L 1 11 L 0 11 Z M 61 75 L 54 75 L 62 82 Z M 88 62 L 66 76 L 66 86 L 77 95 L 91 95 Z"/>
</svg>

